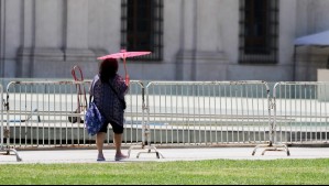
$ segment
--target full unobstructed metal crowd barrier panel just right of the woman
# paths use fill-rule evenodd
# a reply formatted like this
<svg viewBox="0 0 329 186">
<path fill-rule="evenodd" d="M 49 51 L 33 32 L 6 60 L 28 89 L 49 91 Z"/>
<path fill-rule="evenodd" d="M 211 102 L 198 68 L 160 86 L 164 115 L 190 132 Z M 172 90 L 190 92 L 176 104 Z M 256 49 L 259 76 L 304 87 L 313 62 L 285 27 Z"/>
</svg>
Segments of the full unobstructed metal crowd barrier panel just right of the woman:
<svg viewBox="0 0 329 186">
<path fill-rule="evenodd" d="M 154 144 L 255 144 L 268 139 L 270 88 L 264 81 L 158 81 L 146 91 L 146 125 Z"/>
</svg>

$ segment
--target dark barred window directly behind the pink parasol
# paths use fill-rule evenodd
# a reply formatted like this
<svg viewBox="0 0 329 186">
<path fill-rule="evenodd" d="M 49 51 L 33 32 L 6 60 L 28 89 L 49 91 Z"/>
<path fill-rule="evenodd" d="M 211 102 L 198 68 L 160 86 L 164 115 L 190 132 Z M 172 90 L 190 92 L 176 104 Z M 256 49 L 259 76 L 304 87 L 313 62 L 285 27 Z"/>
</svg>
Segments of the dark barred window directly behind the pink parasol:
<svg viewBox="0 0 329 186">
<path fill-rule="evenodd" d="M 122 0 L 121 46 L 130 52 L 151 51 L 139 61 L 163 59 L 163 0 Z"/>
</svg>

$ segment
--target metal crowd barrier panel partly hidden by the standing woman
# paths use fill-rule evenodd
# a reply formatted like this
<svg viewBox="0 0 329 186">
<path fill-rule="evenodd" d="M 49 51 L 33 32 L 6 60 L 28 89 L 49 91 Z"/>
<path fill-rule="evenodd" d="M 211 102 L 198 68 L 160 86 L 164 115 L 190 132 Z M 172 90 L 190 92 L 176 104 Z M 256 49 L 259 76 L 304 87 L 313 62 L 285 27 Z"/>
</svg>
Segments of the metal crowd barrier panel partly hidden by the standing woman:
<svg viewBox="0 0 329 186">
<path fill-rule="evenodd" d="M 8 114 L 15 147 L 95 145 L 95 136 L 85 130 L 85 111 L 91 81 L 12 81 L 7 88 Z M 85 89 L 87 95 L 81 95 Z M 125 96 L 124 144 L 142 142 L 143 85 L 131 81 Z M 113 136 L 109 128 L 107 143 Z"/>
</svg>

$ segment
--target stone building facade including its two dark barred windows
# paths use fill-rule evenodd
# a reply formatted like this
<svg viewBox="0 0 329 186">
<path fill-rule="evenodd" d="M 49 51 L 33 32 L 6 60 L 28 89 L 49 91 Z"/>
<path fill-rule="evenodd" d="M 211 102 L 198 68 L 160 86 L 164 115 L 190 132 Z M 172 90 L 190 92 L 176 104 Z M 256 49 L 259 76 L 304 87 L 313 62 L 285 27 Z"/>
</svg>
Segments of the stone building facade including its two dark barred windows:
<svg viewBox="0 0 329 186">
<path fill-rule="evenodd" d="M 0 77 L 86 78 L 121 48 L 141 80 L 316 80 L 327 48 L 296 37 L 329 30 L 328 0 L 0 0 Z M 142 41 L 142 42 L 141 42 Z M 123 73 L 122 68 L 120 73 Z"/>
</svg>

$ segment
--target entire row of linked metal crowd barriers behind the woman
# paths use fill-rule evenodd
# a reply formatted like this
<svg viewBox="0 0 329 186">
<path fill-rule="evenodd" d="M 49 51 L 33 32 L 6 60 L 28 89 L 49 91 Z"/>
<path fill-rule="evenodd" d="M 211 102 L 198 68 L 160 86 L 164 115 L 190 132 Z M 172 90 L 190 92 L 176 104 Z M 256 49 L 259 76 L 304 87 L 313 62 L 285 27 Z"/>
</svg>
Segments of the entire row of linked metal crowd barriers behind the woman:
<svg viewBox="0 0 329 186">
<path fill-rule="evenodd" d="M 94 145 L 78 86 L 89 90 L 90 81 L 12 81 L 4 101 L 0 86 L 1 151 Z M 163 155 L 155 145 L 257 144 L 253 155 L 259 147 L 289 155 L 288 143 L 328 143 L 328 94 L 329 83 L 278 83 L 272 99 L 264 81 L 154 81 L 145 87 L 132 81 L 123 144 L 131 145 L 129 154 L 141 147 L 158 158 Z"/>
</svg>

